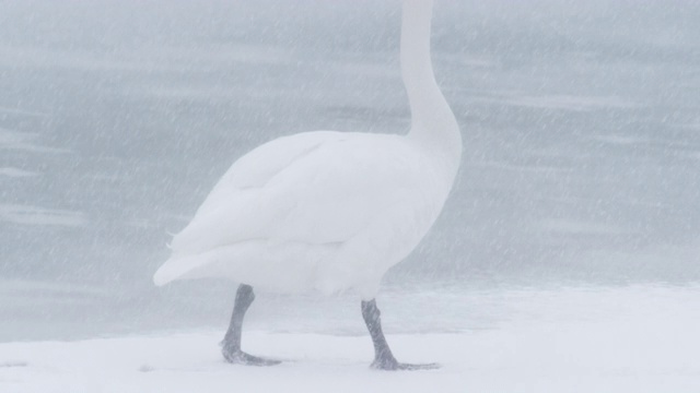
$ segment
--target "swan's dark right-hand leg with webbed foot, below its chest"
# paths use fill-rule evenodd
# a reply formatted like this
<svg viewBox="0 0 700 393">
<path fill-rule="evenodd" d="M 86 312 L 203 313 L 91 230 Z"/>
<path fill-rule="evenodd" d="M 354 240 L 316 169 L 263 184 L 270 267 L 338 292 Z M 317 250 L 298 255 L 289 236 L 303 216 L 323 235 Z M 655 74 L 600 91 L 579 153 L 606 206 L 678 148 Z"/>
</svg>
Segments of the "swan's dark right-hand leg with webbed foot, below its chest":
<svg viewBox="0 0 700 393">
<path fill-rule="evenodd" d="M 386 343 L 384 332 L 382 332 L 382 318 L 380 309 L 374 299 L 362 301 L 362 318 L 368 325 L 372 343 L 374 344 L 374 361 L 372 368 L 380 370 L 430 370 L 439 368 L 438 364 L 409 365 L 396 360 L 389 345 Z"/>
</svg>

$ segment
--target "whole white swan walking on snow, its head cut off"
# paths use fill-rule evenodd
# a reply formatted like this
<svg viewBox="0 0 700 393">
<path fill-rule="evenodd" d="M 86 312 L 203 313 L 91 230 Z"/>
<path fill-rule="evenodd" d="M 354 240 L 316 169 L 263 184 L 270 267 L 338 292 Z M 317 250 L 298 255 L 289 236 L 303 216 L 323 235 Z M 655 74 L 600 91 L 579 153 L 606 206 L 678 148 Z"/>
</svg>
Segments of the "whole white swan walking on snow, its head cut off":
<svg viewBox="0 0 700 393">
<path fill-rule="evenodd" d="M 389 267 L 428 233 L 462 157 L 457 121 L 430 58 L 433 0 L 404 0 L 400 67 L 411 126 L 407 134 L 313 131 L 265 143 L 223 175 L 156 271 L 176 279 L 242 283 L 221 343 L 229 362 L 270 366 L 241 349 L 253 288 L 277 293 L 353 290 L 374 344 L 371 367 L 398 362 L 382 331 L 375 296 Z"/>
</svg>

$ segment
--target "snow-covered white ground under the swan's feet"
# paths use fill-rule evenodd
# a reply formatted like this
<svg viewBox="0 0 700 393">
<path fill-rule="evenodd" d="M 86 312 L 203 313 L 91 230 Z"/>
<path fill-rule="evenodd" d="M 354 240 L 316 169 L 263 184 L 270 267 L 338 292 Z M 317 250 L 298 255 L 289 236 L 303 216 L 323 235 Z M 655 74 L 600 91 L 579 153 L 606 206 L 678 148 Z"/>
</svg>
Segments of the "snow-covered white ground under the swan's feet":
<svg viewBox="0 0 700 393">
<path fill-rule="evenodd" d="M 413 311 L 433 318 L 433 332 L 388 334 L 400 360 L 440 362 L 433 371 L 369 369 L 365 335 L 264 329 L 245 332 L 244 347 L 285 361 L 231 366 L 219 353 L 222 332 L 195 331 L 0 344 L 0 391 L 700 391 L 700 287 L 510 289 L 463 300 L 475 318 L 489 310 L 505 310 L 505 318 L 490 327 L 440 333 L 444 310 L 431 315 L 421 306 Z M 455 298 L 446 301 L 458 307 Z M 385 317 L 392 311 L 385 307 Z"/>
</svg>

